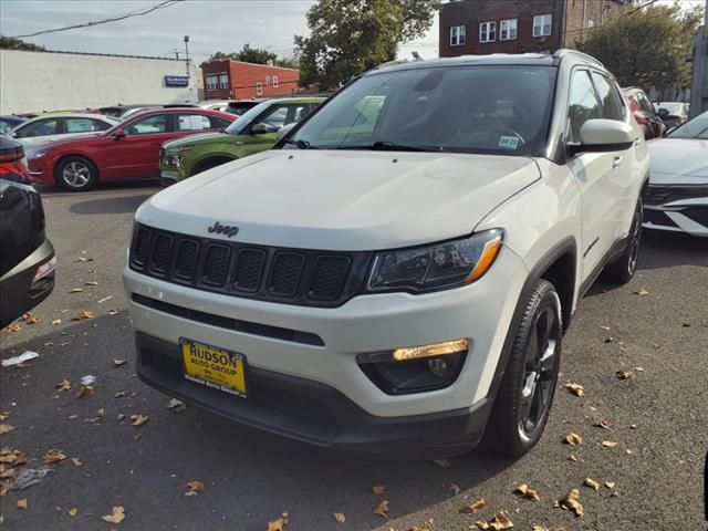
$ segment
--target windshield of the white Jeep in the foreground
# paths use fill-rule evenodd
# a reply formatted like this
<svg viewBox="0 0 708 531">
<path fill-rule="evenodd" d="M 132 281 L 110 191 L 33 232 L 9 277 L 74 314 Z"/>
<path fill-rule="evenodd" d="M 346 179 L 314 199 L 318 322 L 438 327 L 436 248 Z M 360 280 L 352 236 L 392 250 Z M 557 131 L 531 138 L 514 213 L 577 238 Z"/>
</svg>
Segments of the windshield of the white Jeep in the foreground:
<svg viewBox="0 0 708 531">
<path fill-rule="evenodd" d="M 284 147 L 540 154 L 554 76 L 553 67 L 508 65 L 369 74 L 332 98 Z"/>
</svg>

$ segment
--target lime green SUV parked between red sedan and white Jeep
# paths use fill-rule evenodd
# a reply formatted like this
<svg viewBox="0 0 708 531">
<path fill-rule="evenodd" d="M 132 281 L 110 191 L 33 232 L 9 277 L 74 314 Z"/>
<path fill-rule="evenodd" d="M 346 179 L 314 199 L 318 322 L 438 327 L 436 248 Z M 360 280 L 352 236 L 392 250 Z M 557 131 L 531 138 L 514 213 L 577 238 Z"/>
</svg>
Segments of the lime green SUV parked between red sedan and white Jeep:
<svg viewBox="0 0 708 531">
<path fill-rule="evenodd" d="M 159 154 L 160 183 L 165 186 L 225 163 L 270 149 L 278 132 L 300 122 L 325 98 L 267 100 L 241 115 L 223 133 L 191 135 L 166 142 Z"/>
</svg>

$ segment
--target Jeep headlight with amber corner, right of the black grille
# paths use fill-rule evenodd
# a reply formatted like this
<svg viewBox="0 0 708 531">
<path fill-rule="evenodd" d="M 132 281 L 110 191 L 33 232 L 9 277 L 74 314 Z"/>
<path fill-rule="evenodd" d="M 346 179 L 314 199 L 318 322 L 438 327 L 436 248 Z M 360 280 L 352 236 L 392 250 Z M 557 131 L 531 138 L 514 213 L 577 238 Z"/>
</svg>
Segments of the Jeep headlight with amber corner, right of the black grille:
<svg viewBox="0 0 708 531">
<path fill-rule="evenodd" d="M 502 240 L 503 231 L 491 229 L 460 240 L 379 252 L 366 289 L 421 292 L 475 282 L 494 262 Z"/>
</svg>

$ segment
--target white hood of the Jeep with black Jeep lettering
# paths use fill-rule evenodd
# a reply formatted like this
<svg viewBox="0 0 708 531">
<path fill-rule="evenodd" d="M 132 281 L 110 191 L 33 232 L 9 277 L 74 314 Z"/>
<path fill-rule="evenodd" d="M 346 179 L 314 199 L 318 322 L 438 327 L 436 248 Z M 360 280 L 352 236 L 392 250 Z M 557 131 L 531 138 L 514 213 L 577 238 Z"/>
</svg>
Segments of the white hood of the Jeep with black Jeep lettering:
<svg viewBox="0 0 708 531">
<path fill-rule="evenodd" d="M 377 250 L 469 235 L 539 178 L 527 157 L 278 149 L 174 185 L 145 201 L 136 219 L 225 240 L 208 227 L 236 225 L 231 241 Z"/>
</svg>

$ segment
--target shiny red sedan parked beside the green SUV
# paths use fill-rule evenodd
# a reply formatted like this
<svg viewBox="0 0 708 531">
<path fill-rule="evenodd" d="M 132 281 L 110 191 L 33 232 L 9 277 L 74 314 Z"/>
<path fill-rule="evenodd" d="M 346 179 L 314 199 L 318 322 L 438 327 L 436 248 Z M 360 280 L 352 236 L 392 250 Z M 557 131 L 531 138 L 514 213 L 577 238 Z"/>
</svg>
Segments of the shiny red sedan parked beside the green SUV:
<svg viewBox="0 0 708 531">
<path fill-rule="evenodd" d="M 95 136 L 41 146 L 30 154 L 30 178 L 72 191 L 100 180 L 156 179 L 164 142 L 200 132 L 221 131 L 237 116 L 205 108 L 147 111 Z"/>
</svg>

